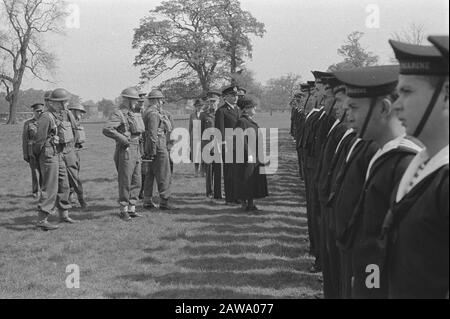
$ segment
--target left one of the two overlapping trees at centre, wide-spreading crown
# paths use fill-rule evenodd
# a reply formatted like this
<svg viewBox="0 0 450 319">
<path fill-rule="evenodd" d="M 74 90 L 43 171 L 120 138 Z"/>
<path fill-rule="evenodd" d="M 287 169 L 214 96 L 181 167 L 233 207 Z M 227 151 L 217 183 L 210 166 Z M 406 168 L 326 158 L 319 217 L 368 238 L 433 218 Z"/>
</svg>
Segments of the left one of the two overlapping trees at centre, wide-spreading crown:
<svg viewBox="0 0 450 319">
<path fill-rule="evenodd" d="M 170 0 L 150 11 L 135 29 L 132 46 L 139 49 L 134 65 L 141 80 L 153 80 L 177 69 L 194 72 L 204 91 L 209 89 L 225 52 L 208 23 L 212 1 Z"/>
</svg>

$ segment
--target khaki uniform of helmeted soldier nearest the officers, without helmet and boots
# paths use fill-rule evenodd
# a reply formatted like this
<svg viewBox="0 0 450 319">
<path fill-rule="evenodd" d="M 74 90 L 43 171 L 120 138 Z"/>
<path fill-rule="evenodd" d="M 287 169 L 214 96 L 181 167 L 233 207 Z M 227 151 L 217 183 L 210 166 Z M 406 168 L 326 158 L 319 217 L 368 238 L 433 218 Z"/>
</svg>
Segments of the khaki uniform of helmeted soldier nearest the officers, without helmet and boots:
<svg viewBox="0 0 450 319">
<path fill-rule="evenodd" d="M 155 106 L 144 112 L 145 124 L 145 155 L 154 156 L 147 164 L 147 175 L 144 185 L 144 205 L 150 204 L 153 197 L 153 181 L 156 178 L 159 196 L 163 202 L 170 197 L 170 159 L 167 149 L 167 134 L 172 130 L 172 123 L 165 111 L 159 111 Z"/>
</svg>

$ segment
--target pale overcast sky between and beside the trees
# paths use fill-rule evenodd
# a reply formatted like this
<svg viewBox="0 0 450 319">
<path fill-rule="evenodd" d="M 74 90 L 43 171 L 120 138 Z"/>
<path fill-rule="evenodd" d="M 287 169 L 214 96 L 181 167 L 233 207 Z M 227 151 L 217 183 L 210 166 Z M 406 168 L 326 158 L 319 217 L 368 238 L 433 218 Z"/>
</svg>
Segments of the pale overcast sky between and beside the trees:
<svg viewBox="0 0 450 319">
<path fill-rule="evenodd" d="M 52 36 L 47 45 L 57 54 L 54 81 L 46 84 L 27 78 L 24 88 L 65 87 L 83 100 L 114 99 L 139 82 L 132 63 L 133 29 L 157 0 L 74 0 L 79 28 Z M 393 56 L 387 40 L 411 23 L 428 34 L 448 34 L 448 0 L 241 0 L 242 7 L 265 23 L 264 38 L 253 39 L 253 60 L 246 63 L 262 83 L 289 72 L 310 80 L 311 70 L 326 70 L 341 61 L 337 48 L 355 30 L 365 33 L 363 45 L 379 55 L 381 63 Z M 379 8 L 379 28 L 368 28 L 373 7 Z M 368 7 L 369 6 L 369 7 Z M 374 20 L 371 20 L 374 21 Z M 149 83 L 146 89 L 165 78 Z"/>
</svg>

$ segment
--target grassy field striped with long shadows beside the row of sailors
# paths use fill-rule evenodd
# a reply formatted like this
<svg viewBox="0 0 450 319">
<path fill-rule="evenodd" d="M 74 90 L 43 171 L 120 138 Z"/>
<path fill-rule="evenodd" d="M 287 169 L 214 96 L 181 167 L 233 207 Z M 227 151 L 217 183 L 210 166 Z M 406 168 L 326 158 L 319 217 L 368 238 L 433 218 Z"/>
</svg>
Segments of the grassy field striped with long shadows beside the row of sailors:
<svg viewBox="0 0 450 319">
<path fill-rule="evenodd" d="M 101 124 L 85 124 L 81 177 L 89 208 L 74 208 L 81 222 L 54 232 L 34 227 L 21 125 L 0 125 L 0 298 L 321 297 L 320 275 L 307 271 L 304 188 L 288 114 L 258 117 L 260 126 L 280 128 L 280 166 L 269 176 L 271 196 L 259 202 L 261 213 L 206 201 L 204 180 L 182 164 L 172 187 L 178 210 L 122 222 L 114 144 Z M 80 267 L 78 289 L 66 288 L 69 264 Z"/>
</svg>

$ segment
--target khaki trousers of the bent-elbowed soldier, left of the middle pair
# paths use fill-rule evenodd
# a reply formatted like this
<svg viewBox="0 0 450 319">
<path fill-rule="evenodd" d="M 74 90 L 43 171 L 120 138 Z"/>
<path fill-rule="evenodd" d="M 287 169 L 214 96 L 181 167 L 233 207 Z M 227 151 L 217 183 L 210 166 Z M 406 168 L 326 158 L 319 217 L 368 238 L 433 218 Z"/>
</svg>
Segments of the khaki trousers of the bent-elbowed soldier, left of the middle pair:
<svg viewBox="0 0 450 319">
<path fill-rule="evenodd" d="M 120 206 L 135 206 L 139 200 L 141 188 L 141 151 L 139 144 L 130 144 L 123 148 L 116 145 L 114 153 L 119 184 Z"/>
</svg>

